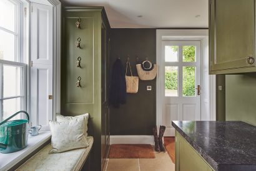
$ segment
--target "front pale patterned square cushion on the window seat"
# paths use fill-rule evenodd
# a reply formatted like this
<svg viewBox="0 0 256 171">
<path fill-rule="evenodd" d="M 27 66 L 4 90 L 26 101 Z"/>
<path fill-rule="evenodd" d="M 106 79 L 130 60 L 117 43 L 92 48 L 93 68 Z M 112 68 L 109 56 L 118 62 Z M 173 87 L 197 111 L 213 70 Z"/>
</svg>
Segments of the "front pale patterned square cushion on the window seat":
<svg viewBox="0 0 256 171">
<path fill-rule="evenodd" d="M 49 154 L 89 146 L 84 135 L 84 118 L 65 122 L 49 121 L 49 125 L 52 133 Z"/>
</svg>

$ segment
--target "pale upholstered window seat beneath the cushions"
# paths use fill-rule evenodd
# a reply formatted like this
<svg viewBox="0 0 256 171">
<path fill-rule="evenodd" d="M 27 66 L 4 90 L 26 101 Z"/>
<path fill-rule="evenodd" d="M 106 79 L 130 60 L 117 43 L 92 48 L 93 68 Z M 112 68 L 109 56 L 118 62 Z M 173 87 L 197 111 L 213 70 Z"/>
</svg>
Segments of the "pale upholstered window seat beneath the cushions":
<svg viewBox="0 0 256 171">
<path fill-rule="evenodd" d="M 51 144 L 33 155 L 17 170 L 81 170 L 92 148 L 93 137 L 87 137 L 89 147 L 49 154 Z"/>
</svg>

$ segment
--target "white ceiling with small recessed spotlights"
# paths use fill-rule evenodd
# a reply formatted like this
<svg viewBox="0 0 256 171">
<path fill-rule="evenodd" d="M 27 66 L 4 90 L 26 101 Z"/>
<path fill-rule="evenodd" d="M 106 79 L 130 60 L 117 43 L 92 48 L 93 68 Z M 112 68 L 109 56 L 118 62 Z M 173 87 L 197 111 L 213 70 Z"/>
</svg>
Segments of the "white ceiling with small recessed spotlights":
<svg viewBox="0 0 256 171">
<path fill-rule="evenodd" d="M 61 1 L 65 6 L 104 6 L 112 28 L 208 27 L 208 0 Z"/>
</svg>

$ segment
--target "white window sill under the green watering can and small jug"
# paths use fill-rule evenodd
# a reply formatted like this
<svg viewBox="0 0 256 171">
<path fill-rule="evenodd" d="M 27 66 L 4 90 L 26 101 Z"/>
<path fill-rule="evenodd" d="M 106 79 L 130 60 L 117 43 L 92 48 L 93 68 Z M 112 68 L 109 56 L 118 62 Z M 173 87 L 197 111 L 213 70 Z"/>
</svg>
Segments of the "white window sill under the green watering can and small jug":
<svg viewBox="0 0 256 171">
<path fill-rule="evenodd" d="M 51 131 L 41 131 L 38 136 L 28 136 L 27 147 L 9 154 L 0 153 L 0 170 L 9 170 L 27 155 L 51 139 Z"/>
</svg>

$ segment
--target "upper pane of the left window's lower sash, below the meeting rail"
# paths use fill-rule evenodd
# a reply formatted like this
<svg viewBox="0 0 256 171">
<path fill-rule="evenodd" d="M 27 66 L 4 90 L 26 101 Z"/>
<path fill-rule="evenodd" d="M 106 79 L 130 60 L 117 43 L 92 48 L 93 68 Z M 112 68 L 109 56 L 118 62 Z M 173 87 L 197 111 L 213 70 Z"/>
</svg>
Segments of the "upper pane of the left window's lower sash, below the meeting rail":
<svg viewBox="0 0 256 171">
<path fill-rule="evenodd" d="M 21 67 L 4 65 L 4 98 L 21 95 Z"/>
</svg>

